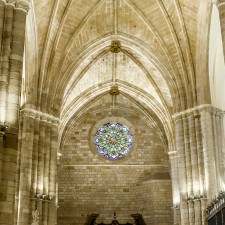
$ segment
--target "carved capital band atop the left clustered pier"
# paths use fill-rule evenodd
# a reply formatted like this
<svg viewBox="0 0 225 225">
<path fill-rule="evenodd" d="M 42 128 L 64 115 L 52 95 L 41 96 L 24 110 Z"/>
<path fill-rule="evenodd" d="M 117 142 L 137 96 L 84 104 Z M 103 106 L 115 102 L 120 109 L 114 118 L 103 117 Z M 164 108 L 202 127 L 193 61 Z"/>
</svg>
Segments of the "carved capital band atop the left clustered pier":
<svg viewBox="0 0 225 225">
<path fill-rule="evenodd" d="M 24 108 L 24 109 L 21 109 L 20 112 L 21 112 L 22 115 L 25 115 L 25 116 L 28 116 L 28 117 L 38 118 L 40 120 L 45 120 L 47 122 L 51 122 L 51 123 L 54 123 L 54 124 L 57 124 L 57 125 L 59 124 L 59 118 L 57 118 L 53 115 L 47 114 L 47 113 L 43 113 L 41 111 L 37 111 L 37 110 L 34 110 L 34 109 L 29 109 L 29 108 Z"/>
</svg>

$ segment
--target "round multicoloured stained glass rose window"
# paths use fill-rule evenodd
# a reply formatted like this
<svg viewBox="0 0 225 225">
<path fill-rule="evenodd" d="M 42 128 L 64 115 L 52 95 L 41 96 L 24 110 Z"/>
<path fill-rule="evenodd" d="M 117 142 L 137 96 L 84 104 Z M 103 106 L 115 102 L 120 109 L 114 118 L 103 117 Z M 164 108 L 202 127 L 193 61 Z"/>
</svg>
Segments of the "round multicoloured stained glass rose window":
<svg viewBox="0 0 225 225">
<path fill-rule="evenodd" d="M 102 125 L 95 134 L 95 147 L 100 155 L 118 159 L 127 155 L 132 147 L 132 134 L 127 126 L 110 122 Z"/>
</svg>

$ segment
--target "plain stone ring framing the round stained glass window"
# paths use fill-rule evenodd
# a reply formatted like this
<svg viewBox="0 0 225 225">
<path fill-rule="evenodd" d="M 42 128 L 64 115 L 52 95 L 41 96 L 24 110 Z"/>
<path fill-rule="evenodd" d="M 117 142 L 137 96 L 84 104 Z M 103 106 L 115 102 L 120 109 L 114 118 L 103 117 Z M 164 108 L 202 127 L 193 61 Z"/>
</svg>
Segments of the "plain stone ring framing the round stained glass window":
<svg viewBox="0 0 225 225">
<path fill-rule="evenodd" d="M 116 123 L 121 123 L 123 125 L 125 125 L 131 135 L 132 135 L 132 146 L 129 149 L 129 152 L 127 155 L 123 155 L 123 157 L 121 158 L 116 158 L 116 159 L 111 159 L 111 158 L 106 158 L 104 155 L 101 155 L 98 150 L 96 149 L 95 146 L 95 134 L 98 131 L 98 129 L 103 126 L 106 123 L 111 123 L 111 122 L 116 122 Z M 101 119 L 99 122 L 97 122 L 93 128 L 91 129 L 91 134 L 90 134 L 91 138 L 90 138 L 90 147 L 91 147 L 91 151 L 94 155 L 97 155 L 100 159 L 105 159 L 107 161 L 112 161 L 112 162 L 118 162 L 120 160 L 125 160 L 127 158 L 129 158 L 131 156 L 131 152 L 136 148 L 136 132 L 135 132 L 135 127 L 133 126 L 132 123 L 130 123 L 128 120 L 122 118 L 122 117 L 107 117 L 104 119 Z"/>
</svg>

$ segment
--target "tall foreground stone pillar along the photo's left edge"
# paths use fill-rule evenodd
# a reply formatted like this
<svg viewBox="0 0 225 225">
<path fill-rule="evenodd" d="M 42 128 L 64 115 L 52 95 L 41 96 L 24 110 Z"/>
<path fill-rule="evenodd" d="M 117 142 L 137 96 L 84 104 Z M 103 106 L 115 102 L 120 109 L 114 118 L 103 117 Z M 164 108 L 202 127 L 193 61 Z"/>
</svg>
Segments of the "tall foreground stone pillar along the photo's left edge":
<svg viewBox="0 0 225 225">
<path fill-rule="evenodd" d="M 0 224 L 15 224 L 16 218 L 19 96 L 27 10 L 26 0 L 0 0 Z"/>
</svg>

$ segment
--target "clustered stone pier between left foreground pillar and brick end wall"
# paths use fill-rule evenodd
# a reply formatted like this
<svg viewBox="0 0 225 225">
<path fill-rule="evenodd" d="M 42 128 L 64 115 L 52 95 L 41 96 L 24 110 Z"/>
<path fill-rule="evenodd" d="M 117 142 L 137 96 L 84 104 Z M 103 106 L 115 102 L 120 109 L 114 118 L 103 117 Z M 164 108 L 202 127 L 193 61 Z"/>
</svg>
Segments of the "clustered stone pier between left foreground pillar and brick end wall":
<svg viewBox="0 0 225 225">
<path fill-rule="evenodd" d="M 40 225 L 56 224 L 58 119 L 33 109 L 23 109 L 21 114 L 17 224 L 31 224 L 34 212 Z"/>
</svg>

